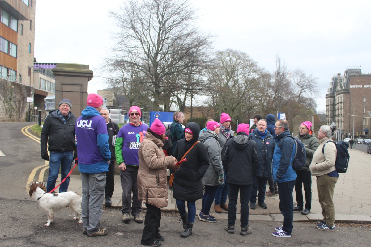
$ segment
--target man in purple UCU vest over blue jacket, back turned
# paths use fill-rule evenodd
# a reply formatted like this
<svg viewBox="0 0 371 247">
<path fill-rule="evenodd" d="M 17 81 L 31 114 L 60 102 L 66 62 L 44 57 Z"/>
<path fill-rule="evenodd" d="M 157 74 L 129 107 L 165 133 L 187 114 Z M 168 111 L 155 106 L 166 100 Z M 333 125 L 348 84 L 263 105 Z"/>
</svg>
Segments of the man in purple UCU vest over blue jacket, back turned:
<svg viewBox="0 0 371 247">
<path fill-rule="evenodd" d="M 83 234 L 94 237 L 108 233 L 106 228 L 100 227 L 100 221 L 111 152 L 106 121 L 99 113 L 103 106 L 102 97 L 89 94 L 86 104 L 88 106 L 76 121 L 75 134 L 82 184 Z"/>
</svg>

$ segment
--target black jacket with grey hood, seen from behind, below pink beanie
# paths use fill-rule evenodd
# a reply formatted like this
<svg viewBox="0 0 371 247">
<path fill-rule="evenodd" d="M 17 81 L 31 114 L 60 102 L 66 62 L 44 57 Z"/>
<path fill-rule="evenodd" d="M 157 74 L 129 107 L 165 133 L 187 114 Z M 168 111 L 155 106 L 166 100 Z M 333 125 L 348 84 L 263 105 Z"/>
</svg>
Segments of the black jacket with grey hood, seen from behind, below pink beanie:
<svg viewBox="0 0 371 247">
<path fill-rule="evenodd" d="M 222 151 L 227 183 L 249 185 L 259 170 L 259 152 L 256 142 L 244 132 L 227 141 Z"/>
</svg>

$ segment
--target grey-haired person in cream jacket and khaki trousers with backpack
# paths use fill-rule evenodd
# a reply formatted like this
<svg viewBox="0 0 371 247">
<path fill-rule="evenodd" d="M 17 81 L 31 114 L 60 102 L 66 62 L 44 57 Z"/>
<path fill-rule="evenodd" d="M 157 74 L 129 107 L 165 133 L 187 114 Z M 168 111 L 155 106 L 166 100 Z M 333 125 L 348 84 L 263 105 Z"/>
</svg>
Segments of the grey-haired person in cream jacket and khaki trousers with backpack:
<svg viewBox="0 0 371 247">
<path fill-rule="evenodd" d="M 334 189 L 339 174 L 335 168 L 336 146 L 332 142 L 335 124 L 322 125 L 318 131 L 319 146 L 313 154 L 309 166 L 312 176 L 317 177 L 318 201 L 321 204 L 323 221 L 317 224 L 317 229 L 335 231 Z M 325 145 L 326 144 L 326 145 Z M 323 148 L 325 145 L 325 148 Z M 322 151 L 323 150 L 323 151 Z"/>
</svg>

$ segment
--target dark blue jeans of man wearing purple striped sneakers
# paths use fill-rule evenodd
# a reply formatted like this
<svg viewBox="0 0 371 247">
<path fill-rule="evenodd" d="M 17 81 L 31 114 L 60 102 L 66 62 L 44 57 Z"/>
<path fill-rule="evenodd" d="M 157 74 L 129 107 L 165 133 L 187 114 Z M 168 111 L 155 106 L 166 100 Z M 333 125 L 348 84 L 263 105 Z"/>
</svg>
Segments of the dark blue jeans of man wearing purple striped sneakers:
<svg viewBox="0 0 371 247">
<path fill-rule="evenodd" d="M 292 221 L 294 219 L 294 206 L 292 191 L 294 189 L 295 180 L 283 183 L 277 183 L 279 191 L 279 210 L 283 215 L 282 230 L 287 233 L 292 233 Z"/>
</svg>

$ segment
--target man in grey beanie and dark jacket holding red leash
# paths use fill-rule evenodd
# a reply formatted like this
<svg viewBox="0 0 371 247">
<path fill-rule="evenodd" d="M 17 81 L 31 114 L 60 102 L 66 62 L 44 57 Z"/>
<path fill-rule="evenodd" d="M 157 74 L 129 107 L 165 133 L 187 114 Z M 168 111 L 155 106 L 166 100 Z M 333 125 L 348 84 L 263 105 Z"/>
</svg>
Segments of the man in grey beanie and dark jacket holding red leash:
<svg viewBox="0 0 371 247">
<path fill-rule="evenodd" d="M 55 188 L 60 169 L 60 181 L 67 177 L 71 170 L 72 160 L 77 158 L 75 146 L 76 117 L 70 111 L 72 103 L 69 99 L 59 102 L 59 110 L 50 111 L 41 130 L 40 147 L 41 157 L 49 160 L 47 150 L 50 152 L 49 176 L 46 183 L 46 192 Z M 47 145 L 48 144 L 48 145 Z M 70 178 L 60 185 L 59 192 L 68 190 Z"/>
</svg>

